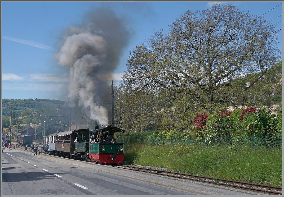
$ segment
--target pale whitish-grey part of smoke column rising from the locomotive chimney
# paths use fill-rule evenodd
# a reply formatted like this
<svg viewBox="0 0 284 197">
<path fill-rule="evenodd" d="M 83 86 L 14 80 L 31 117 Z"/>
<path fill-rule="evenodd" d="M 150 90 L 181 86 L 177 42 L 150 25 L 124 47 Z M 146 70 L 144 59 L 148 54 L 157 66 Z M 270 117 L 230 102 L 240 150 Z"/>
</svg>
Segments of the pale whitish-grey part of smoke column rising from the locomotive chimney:
<svg viewBox="0 0 284 197">
<path fill-rule="evenodd" d="M 83 55 L 87 50 L 97 55 Z M 92 120 L 97 120 L 101 125 L 108 123 L 108 111 L 93 101 L 96 84 L 90 74 L 93 75 L 94 71 L 99 70 L 94 68 L 101 65 L 99 59 L 106 57 L 105 52 L 106 41 L 103 37 L 85 32 L 68 36 L 60 51 L 55 54 L 59 65 L 70 67 L 68 98 L 78 98 L 79 106 L 85 109 Z"/>
</svg>

